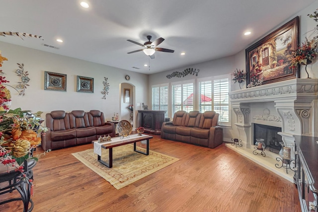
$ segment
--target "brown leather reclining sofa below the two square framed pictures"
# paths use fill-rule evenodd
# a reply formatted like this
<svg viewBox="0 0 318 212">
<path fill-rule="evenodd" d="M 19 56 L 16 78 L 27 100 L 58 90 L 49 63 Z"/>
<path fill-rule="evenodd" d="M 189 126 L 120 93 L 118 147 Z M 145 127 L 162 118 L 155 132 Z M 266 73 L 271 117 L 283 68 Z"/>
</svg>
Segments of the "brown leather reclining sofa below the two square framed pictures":
<svg viewBox="0 0 318 212">
<path fill-rule="evenodd" d="M 116 135 L 114 123 L 105 123 L 104 113 L 99 110 L 52 111 L 46 114 L 46 127 L 48 131 L 41 135 L 45 151 L 90 143 L 99 136 Z"/>
</svg>

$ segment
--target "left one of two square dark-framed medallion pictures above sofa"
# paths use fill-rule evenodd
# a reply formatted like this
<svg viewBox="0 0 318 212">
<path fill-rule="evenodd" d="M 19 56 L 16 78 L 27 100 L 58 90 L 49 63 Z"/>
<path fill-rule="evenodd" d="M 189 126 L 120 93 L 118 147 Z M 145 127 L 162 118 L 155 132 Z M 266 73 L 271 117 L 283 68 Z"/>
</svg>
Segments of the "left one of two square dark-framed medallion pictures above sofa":
<svg viewBox="0 0 318 212">
<path fill-rule="evenodd" d="M 66 91 L 67 75 L 44 71 L 44 90 Z"/>
</svg>

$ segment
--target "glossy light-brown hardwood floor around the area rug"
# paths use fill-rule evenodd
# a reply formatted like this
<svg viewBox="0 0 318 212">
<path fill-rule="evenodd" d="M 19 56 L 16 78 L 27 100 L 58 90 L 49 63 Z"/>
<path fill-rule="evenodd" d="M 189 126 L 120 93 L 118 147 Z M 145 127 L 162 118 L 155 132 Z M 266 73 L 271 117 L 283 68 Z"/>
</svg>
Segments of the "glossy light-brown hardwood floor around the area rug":
<svg viewBox="0 0 318 212">
<path fill-rule="evenodd" d="M 210 149 L 154 136 L 151 150 L 180 160 L 120 190 L 71 154 L 92 147 L 54 150 L 39 159 L 33 212 L 301 211 L 293 183 L 224 144 Z M 40 152 L 38 147 L 35 154 Z M 22 204 L 1 205 L 0 211 L 22 211 Z"/>
</svg>

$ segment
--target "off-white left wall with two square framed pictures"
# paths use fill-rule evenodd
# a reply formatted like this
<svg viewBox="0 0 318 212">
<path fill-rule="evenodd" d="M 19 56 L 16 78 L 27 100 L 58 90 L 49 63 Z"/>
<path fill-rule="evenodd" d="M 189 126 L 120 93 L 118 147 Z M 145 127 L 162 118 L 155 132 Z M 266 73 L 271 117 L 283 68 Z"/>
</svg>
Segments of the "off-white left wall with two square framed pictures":
<svg viewBox="0 0 318 212">
<path fill-rule="evenodd" d="M 17 38 L 18 39 L 18 38 Z M 27 41 L 25 41 L 27 42 Z M 92 109 L 104 112 L 105 119 L 111 120 L 114 112 L 120 113 L 121 90 L 120 84 L 129 82 L 135 86 L 132 100 L 134 102 L 146 102 L 148 98 L 148 75 L 133 71 L 117 69 L 96 63 L 86 62 L 57 54 L 42 52 L 30 48 L 16 46 L 0 42 L 1 55 L 8 59 L 4 61 L 1 70 L 11 86 L 16 86 L 20 81 L 15 71 L 17 63 L 24 64 L 24 71 L 28 71 L 30 81 L 28 82 L 24 96 L 19 96 L 13 88 L 9 88 L 12 95 L 11 108 L 21 107 L 23 110 L 33 112 L 43 111 L 45 114 L 53 110 L 89 111 Z M 44 90 L 44 71 L 67 74 L 67 91 Z M 131 79 L 127 81 L 125 75 L 129 74 Z M 77 76 L 94 78 L 94 92 L 77 92 Z M 102 99 L 104 77 L 108 77 L 109 94 Z"/>
</svg>

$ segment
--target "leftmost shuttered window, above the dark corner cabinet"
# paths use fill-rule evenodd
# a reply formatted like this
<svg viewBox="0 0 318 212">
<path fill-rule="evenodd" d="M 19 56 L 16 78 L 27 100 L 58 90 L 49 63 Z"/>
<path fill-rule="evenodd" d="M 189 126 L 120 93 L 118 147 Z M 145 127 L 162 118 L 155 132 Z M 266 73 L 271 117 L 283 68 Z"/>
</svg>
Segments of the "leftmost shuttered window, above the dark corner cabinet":
<svg viewBox="0 0 318 212">
<path fill-rule="evenodd" d="M 164 117 L 168 117 L 168 85 L 155 85 L 152 87 L 152 109 L 165 110 Z"/>
</svg>

